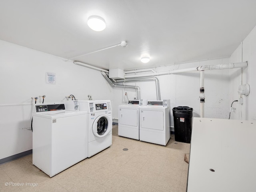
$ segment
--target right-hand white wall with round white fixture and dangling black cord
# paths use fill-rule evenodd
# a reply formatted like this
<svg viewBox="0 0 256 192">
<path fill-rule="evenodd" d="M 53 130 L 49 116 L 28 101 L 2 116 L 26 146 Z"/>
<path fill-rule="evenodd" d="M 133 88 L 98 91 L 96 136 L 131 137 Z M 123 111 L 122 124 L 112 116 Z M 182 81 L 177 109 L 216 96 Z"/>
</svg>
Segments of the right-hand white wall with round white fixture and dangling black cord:
<svg viewBox="0 0 256 192">
<path fill-rule="evenodd" d="M 237 93 L 239 85 L 248 83 L 250 85 L 250 94 L 242 96 L 243 104 L 234 102 L 233 107 L 236 108 L 236 112 L 231 114 L 231 118 L 256 120 L 256 27 L 230 56 L 230 62 L 241 61 L 248 61 L 248 67 L 243 69 L 243 72 L 235 70 L 230 73 L 230 104 L 240 97 Z"/>
</svg>

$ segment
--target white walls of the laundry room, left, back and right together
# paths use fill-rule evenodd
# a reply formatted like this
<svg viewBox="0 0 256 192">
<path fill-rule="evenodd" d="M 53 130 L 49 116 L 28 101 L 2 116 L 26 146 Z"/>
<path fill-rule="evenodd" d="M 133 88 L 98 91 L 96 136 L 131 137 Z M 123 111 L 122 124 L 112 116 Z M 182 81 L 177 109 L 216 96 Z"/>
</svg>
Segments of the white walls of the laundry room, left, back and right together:
<svg viewBox="0 0 256 192">
<path fill-rule="evenodd" d="M 236 112 L 232 112 L 231 118 L 256 120 L 256 28 L 230 58 L 175 64 L 154 70 L 161 72 L 241 61 L 248 61 L 242 75 L 241 69 L 205 71 L 205 117 L 228 118 L 231 102 L 239 97 L 237 87 L 242 79 L 243 84 L 250 84 L 251 92 L 249 96 L 243 96 L 244 104 L 234 103 Z M 55 85 L 46 84 L 46 72 L 56 74 Z M 161 98 L 171 100 L 171 109 L 190 106 L 194 108 L 194 116 L 199 116 L 199 76 L 199 72 L 157 76 Z M 156 100 L 154 81 L 129 84 L 140 86 L 141 98 Z M 32 149 L 29 129 L 34 100 L 31 97 L 46 95 L 45 102 L 62 102 L 70 94 L 80 100 L 87 100 L 90 94 L 93 100 L 111 100 L 114 118 L 118 118 L 118 106 L 125 104 L 122 102 L 123 89 L 113 89 L 99 71 L 1 40 L 0 88 L 0 159 Z M 135 90 L 125 88 L 124 92 L 128 93 L 130 100 L 136 97 Z M 38 102 L 42 102 L 42 98 Z M 173 126 L 173 117 L 171 120 Z"/>
</svg>

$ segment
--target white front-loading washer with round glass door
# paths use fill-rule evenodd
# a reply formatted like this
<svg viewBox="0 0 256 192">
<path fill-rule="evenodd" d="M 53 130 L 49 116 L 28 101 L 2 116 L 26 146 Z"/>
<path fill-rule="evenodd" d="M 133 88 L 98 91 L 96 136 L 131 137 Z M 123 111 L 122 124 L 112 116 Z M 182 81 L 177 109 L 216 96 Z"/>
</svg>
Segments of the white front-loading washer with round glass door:
<svg viewBox="0 0 256 192">
<path fill-rule="evenodd" d="M 88 110 L 88 157 L 112 145 L 110 100 L 79 100 L 80 110 Z"/>
</svg>

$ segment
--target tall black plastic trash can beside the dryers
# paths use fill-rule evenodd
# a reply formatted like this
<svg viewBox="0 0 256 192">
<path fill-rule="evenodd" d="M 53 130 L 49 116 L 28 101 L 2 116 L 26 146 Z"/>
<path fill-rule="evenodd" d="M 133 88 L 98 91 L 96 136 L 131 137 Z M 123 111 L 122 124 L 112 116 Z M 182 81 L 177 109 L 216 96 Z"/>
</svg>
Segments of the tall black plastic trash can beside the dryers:
<svg viewBox="0 0 256 192">
<path fill-rule="evenodd" d="M 192 131 L 193 108 L 178 106 L 172 108 L 175 141 L 190 143 Z"/>
</svg>

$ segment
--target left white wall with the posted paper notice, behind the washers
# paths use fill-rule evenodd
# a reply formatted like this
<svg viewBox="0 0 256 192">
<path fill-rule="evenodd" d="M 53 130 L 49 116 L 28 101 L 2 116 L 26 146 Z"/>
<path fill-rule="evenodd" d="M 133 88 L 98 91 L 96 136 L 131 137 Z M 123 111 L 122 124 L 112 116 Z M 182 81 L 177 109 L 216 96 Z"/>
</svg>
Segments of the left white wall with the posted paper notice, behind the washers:
<svg viewBox="0 0 256 192">
<path fill-rule="evenodd" d="M 46 72 L 56 74 L 56 84 L 46 84 Z M 50 103 L 70 94 L 88 100 L 90 94 L 93 100 L 113 102 L 100 71 L 1 40 L 0 88 L 0 159 L 32 149 L 31 97 L 46 95 L 44 103 Z"/>
</svg>

